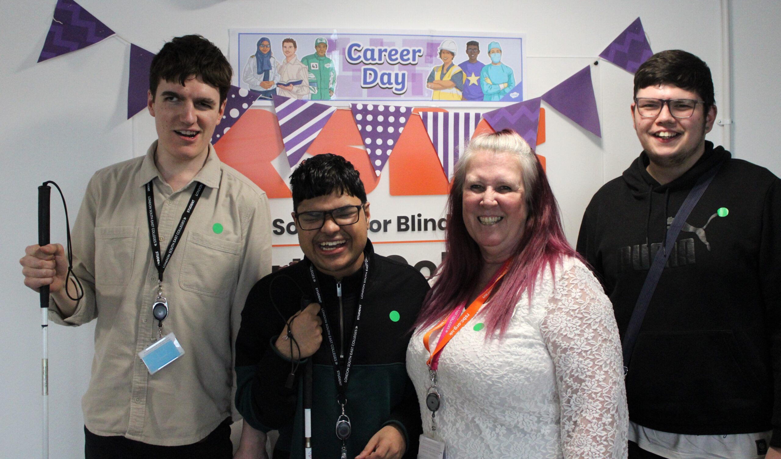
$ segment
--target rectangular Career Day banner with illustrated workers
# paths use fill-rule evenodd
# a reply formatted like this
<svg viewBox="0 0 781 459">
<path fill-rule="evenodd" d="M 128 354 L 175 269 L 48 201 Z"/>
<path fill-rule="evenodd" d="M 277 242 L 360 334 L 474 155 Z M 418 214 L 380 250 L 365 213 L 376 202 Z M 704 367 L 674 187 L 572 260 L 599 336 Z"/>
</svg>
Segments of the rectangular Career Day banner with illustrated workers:
<svg viewBox="0 0 781 459">
<path fill-rule="evenodd" d="M 522 101 L 525 37 L 230 30 L 236 86 L 305 100 Z"/>
</svg>

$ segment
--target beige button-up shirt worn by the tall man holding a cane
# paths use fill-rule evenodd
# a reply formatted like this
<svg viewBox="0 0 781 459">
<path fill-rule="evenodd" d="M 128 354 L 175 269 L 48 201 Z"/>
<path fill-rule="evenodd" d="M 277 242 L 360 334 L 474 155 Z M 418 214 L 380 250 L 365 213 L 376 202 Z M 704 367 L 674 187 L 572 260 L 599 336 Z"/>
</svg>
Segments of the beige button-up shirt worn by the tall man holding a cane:
<svg viewBox="0 0 781 459">
<path fill-rule="evenodd" d="M 55 304 L 49 316 L 70 326 L 98 319 L 82 399 L 87 429 L 177 446 L 205 438 L 232 414 L 233 346 L 249 290 L 271 272 L 271 228 L 266 194 L 220 162 L 211 145 L 203 168 L 176 192 L 155 167 L 156 146 L 90 180 L 72 233 L 73 272 L 84 298 L 70 317 L 63 319 Z M 162 334 L 175 333 L 184 355 L 154 375 L 138 357 L 158 340 L 152 317 L 158 272 L 144 193 L 150 180 L 162 251 L 195 182 L 205 185 L 162 282 L 169 305 Z"/>
</svg>

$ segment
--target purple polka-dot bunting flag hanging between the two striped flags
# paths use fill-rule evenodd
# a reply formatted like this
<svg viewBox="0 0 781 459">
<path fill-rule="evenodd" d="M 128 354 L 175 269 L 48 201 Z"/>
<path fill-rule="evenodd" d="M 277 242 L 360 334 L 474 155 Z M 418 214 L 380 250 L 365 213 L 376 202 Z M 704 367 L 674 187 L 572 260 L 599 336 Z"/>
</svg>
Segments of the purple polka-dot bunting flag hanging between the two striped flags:
<svg viewBox="0 0 781 459">
<path fill-rule="evenodd" d="M 366 145 L 366 154 L 380 176 L 412 109 L 396 105 L 350 104 L 355 124 Z"/>
</svg>

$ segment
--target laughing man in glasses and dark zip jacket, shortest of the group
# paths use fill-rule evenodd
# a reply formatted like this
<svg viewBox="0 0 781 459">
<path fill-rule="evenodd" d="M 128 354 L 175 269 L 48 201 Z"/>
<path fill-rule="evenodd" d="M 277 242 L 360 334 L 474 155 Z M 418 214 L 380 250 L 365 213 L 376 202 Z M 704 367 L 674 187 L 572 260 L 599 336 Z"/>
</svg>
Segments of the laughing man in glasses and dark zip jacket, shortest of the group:
<svg viewBox="0 0 781 459">
<path fill-rule="evenodd" d="M 366 191 L 341 156 L 302 162 L 291 190 L 305 258 L 248 296 L 237 409 L 255 429 L 279 429 L 274 459 L 304 457 L 301 374 L 311 359 L 314 457 L 415 457 L 421 419 L 405 355 L 426 279 L 374 253 Z"/>
</svg>

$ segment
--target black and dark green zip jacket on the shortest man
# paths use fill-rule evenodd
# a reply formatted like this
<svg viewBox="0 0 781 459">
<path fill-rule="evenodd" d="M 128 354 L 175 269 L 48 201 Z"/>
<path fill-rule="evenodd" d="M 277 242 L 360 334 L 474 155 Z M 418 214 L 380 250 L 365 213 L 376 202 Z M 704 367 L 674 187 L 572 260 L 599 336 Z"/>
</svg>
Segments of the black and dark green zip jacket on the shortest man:
<svg viewBox="0 0 781 459">
<path fill-rule="evenodd" d="M 364 254 L 369 257 L 369 278 L 348 380 L 346 414 L 352 433 L 346 443 L 347 454 L 357 456 L 383 426 L 396 425 L 405 434 L 404 457 L 415 457 L 422 432 L 421 418 L 405 360 L 410 330 L 429 286 L 411 266 L 374 254 L 369 241 Z M 291 361 L 278 353 L 274 343 L 287 318 L 301 309 L 302 297 L 304 306 L 317 301 L 308 265 L 305 258 L 255 284 L 241 313 L 236 341 L 236 407 L 255 429 L 280 431 L 275 459 L 304 457 L 304 365 L 299 365 L 295 372 L 293 389 L 286 389 Z M 336 279 L 318 272 L 318 280 L 338 355 L 342 339 Z M 363 268 L 341 281 L 345 357 L 350 349 L 362 281 Z M 323 343 L 312 359 L 312 454 L 339 457 L 341 440 L 334 429 L 341 409 L 325 326 Z"/>
</svg>

